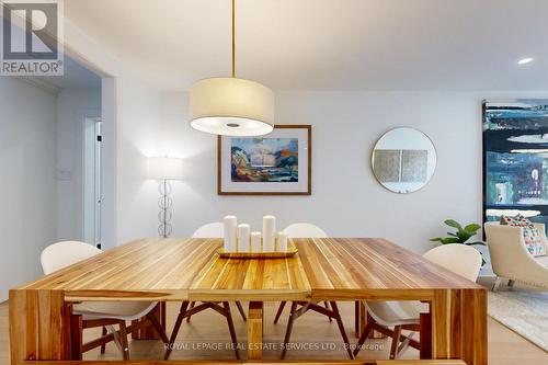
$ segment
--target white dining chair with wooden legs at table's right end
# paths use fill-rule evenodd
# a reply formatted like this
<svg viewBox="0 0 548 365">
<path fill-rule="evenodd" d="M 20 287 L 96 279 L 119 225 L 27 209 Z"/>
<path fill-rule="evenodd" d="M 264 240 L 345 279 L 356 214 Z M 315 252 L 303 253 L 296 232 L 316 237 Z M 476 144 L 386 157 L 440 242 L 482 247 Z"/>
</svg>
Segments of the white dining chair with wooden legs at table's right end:
<svg viewBox="0 0 548 365">
<path fill-rule="evenodd" d="M 478 250 L 460 243 L 438 246 L 427 251 L 423 258 L 472 282 L 478 278 L 482 262 Z M 367 326 L 359 337 L 354 356 L 374 330 L 392 338 L 391 360 L 398 358 L 409 346 L 420 350 L 420 342 L 413 335 L 420 331 L 420 316 L 429 311 L 427 304 L 402 300 L 364 301 L 364 305 L 367 308 Z M 410 333 L 403 335 L 402 330 Z"/>
</svg>

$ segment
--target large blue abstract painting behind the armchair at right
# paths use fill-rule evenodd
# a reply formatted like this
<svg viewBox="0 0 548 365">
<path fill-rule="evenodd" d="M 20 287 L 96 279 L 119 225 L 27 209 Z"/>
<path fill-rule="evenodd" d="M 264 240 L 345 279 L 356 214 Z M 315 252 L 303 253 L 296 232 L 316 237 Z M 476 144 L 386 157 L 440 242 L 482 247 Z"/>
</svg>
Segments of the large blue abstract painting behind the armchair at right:
<svg viewBox="0 0 548 365">
<path fill-rule="evenodd" d="M 548 100 L 483 103 L 484 220 L 548 223 Z"/>
</svg>

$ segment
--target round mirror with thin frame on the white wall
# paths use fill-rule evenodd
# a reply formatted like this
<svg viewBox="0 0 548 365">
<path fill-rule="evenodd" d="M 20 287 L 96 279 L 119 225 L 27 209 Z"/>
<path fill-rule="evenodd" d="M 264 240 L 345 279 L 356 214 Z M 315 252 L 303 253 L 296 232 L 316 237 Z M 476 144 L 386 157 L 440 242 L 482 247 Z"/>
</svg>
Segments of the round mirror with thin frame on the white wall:
<svg viewBox="0 0 548 365">
<path fill-rule="evenodd" d="M 436 169 L 436 150 L 424 133 L 414 128 L 387 132 L 372 153 L 373 173 L 391 192 L 408 194 L 426 185 Z"/>
</svg>

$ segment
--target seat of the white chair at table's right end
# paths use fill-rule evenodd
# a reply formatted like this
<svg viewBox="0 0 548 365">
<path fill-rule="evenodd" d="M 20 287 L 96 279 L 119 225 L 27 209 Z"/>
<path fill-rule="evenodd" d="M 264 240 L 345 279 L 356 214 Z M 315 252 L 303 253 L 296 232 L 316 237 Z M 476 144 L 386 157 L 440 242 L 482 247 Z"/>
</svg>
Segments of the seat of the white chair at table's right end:
<svg viewBox="0 0 548 365">
<path fill-rule="evenodd" d="M 429 305 L 421 301 L 367 301 L 369 315 L 385 327 L 419 324 L 420 315 L 429 312 Z"/>
</svg>

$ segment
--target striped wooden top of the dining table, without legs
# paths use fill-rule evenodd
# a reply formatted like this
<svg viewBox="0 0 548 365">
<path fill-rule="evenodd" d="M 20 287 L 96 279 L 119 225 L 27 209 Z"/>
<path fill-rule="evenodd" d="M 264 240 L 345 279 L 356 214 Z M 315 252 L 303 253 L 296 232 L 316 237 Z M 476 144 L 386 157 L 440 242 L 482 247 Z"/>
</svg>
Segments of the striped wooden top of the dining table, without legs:
<svg viewBox="0 0 548 365">
<path fill-rule="evenodd" d="M 424 299 L 482 287 L 380 238 L 293 239 L 288 259 L 220 259 L 221 239 L 141 239 L 18 289 L 68 300 Z"/>
</svg>

